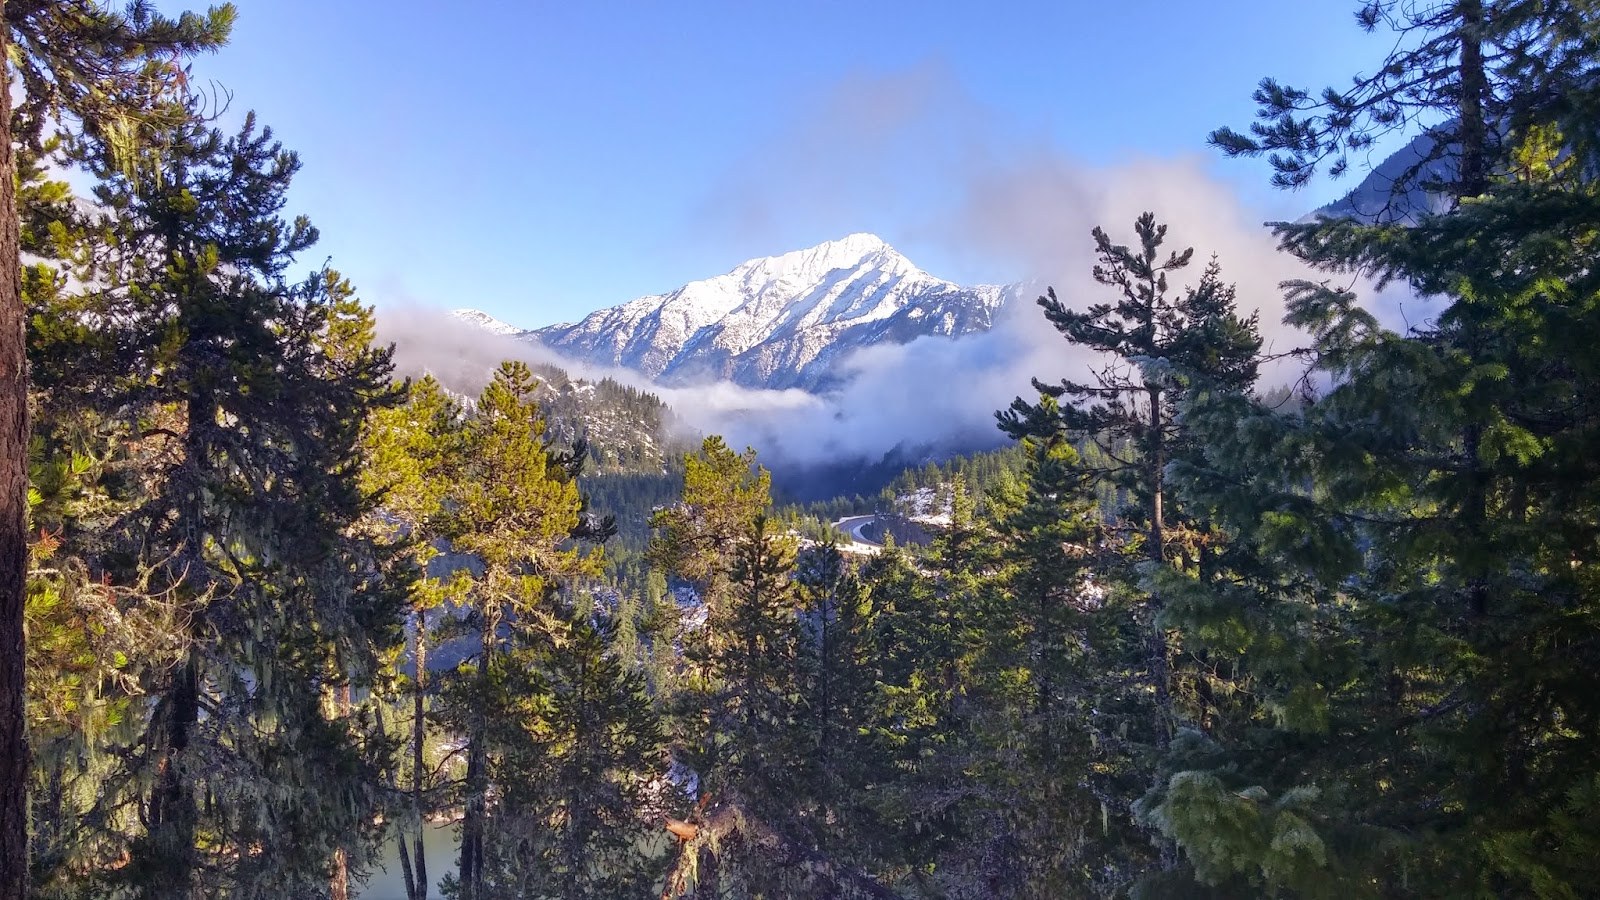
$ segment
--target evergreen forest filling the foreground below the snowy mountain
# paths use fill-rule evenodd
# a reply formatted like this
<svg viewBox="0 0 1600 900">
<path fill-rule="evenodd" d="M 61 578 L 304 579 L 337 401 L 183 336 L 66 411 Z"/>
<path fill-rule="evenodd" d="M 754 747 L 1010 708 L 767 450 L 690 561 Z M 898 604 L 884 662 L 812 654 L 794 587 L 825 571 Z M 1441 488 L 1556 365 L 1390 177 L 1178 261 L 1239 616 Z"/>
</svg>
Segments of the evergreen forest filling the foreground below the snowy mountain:
<svg viewBox="0 0 1600 900">
<path fill-rule="evenodd" d="M 1350 85 L 1211 135 L 1429 138 L 1437 211 L 1272 226 L 1299 346 L 1109 221 L 1005 448 L 786 506 L 646 391 L 398 376 L 189 80 L 230 5 L 3 13 L 0 898 L 1595 894 L 1595 5 L 1362 5 Z"/>
</svg>

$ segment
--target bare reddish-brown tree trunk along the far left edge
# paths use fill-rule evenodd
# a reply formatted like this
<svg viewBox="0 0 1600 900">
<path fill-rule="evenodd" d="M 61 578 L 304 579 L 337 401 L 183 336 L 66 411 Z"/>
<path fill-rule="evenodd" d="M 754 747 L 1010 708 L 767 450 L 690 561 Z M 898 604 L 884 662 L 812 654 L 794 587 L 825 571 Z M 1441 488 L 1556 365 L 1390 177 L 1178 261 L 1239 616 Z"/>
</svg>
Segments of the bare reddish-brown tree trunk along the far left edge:
<svg viewBox="0 0 1600 900">
<path fill-rule="evenodd" d="M 0 50 L 10 50 L 0 0 Z M 0 898 L 27 894 L 27 343 L 24 340 L 11 67 L 0 53 Z"/>
</svg>

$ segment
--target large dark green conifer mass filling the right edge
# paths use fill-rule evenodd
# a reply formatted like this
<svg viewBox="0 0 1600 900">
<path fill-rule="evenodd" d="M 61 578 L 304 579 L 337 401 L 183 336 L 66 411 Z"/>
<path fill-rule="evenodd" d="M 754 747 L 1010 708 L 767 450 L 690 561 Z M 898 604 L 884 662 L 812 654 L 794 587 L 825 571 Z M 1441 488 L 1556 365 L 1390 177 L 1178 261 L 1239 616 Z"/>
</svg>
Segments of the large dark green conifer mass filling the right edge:
<svg viewBox="0 0 1600 900">
<path fill-rule="evenodd" d="M 1235 552 L 1226 578 L 1171 583 L 1174 620 L 1227 692 L 1147 809 L 1208 882 L 1570 897 L 1594 879 L 1595 717 L 1576 673 L 1594 666 L 1579 498 L 1595 386 L 1566 343 L 1594 330 L 1594 21 L 1517 2 L 1395 19 L 1381 77 L 1419 85 L 1400 99 L 1445 122 L 1427 130 L 1448 157 L 1430 176 L 1443 213 L 1280 234 L 1326 271 L 1451 306 L 1395 335 L 1350 291 L 1291 285 L 1325 396 L 1291 413 L 1200 396 L 1186 418 L 1205 440 L 1182 490 Z M 1290 183 L 1411 122 L 1370 93 L 1267 99 L 1253 143 L 1218 139 L 1278 151 Z"/>
</svg>

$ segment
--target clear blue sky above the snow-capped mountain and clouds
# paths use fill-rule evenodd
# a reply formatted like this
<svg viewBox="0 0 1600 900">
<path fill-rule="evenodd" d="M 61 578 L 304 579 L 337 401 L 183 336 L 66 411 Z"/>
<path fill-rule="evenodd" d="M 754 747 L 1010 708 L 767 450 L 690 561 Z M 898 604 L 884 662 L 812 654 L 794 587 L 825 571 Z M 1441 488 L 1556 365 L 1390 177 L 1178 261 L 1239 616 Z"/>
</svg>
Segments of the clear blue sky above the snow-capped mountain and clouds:
<svg viewBox="0 0 1600 900">
<path fill-rule="evenodd" d="M 1275 195 L 1206 131 L 1248 123 L 1262 75 L 1344 83 L 1382 50 L 1354 0 L 235 2 L 195 75 L 301 154 L 306 263 L 379 309 L 526 327 L 853 231 L 1019 279 L 958 219 L 1042 159 L 1091 183 L 1186 159 L 1294 216 L 1352 183 Z"/>
</svg>

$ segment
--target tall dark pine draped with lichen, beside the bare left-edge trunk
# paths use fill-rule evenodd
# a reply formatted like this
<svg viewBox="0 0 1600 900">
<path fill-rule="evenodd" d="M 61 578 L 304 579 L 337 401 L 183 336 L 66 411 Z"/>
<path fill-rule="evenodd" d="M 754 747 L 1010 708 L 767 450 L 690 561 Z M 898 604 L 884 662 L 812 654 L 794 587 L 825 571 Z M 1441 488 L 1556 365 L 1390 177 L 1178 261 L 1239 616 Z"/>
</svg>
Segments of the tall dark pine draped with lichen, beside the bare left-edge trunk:
<svg viewBox="0 0 1600 900">
<path fill-rule="evenodd" d="M 110 682 L 157 700 L 86 735 L 133 749 L 109 772 L 53 769 L 99 785 L 93 844 L 69 855 L 98 863 L 104 890 L 325 889 L 376 839 L 362 815 L 384 751 L 330 698 L 394 636 L 374 548 L 352 530 L 370 508 L 357 437 L 392 399 L 389 354 L 336 274 L 286 280 L 315 237 L 277 218 L 293 154 L 253 122 L 234 139 L 197 122 L 165 135 L 160 178 L 80 147 L 104 179 L 93 234 L 110 245 L 75 272 L 91 288 L 37 317 L 46 354 L 86 336 L 72 322 L 101 328 L 72 370 L 42 370 L 94 383 L 61 391 L 70 415 L 51 413 L 46 440 L 85 424 L 112 439 L 86 456 L 106 500 L 61 519 L 64 549 L 122 621 L 160 628 Z M 267 857 L 269 842 L 293 852 Z"/>
</svg>

